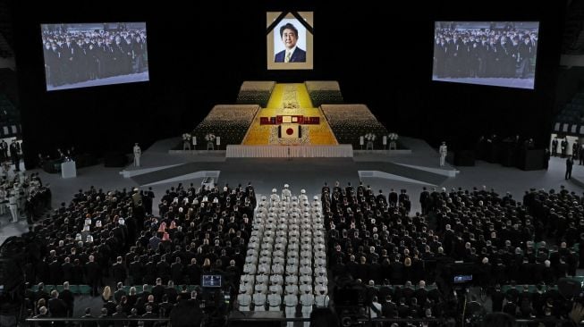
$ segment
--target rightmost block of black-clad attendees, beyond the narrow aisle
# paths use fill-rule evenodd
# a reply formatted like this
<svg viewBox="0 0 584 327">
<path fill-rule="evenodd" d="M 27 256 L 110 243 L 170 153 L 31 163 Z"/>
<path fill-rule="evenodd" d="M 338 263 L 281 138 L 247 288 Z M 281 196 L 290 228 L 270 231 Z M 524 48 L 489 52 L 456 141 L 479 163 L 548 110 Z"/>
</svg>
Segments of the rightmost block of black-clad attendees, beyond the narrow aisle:
<svg viewBox="0 0 584 327">
<path fill-rule="evenodd" d="M 524 197 L 525 205 L 510 193 L 499 197 L 486 188 L 453 189 L 450 193 L 443 189 L 441 193 L 432 192 L 430 197 L 436 195 L 442 202 L 436 202 L 430 214 L 436 216 L 436 231 L 442 234 L 444 253 L 455 260 L 479 264 L 483 283 L 553 283 L 576 274 L 579 254 L 573 248 L 573 240 L 568 246 L 564 234 L 559 238 L 558 234 L 558 246 L 550 247 L 543 236 L 537 235 L 537 230 L 553 231 L 551 225 L 562 220 L 548 223 L 549 219 L 532 214 L 537 212 L 539 198 L 546 197 L 545 191 L 530 190 Z M 564 191 L 562 197 L 571 196 Z M 554 236 L 549 234 L 548 238 Z"/>
</svg>

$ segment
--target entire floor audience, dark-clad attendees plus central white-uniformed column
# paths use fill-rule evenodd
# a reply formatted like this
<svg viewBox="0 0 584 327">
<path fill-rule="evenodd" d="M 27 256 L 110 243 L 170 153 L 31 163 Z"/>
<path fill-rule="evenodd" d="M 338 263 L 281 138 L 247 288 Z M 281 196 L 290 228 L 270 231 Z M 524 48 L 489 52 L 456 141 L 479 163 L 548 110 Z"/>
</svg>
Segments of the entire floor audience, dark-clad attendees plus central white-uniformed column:
<svg viewBox="0 0 584 327">
<path fill-rule="evenodd" d="M 328 262 L 337 286 L 349 281 L 362 286 L 371 316 L 444 318 L 459 313 L 466 296 L 452 289 L 443 272 L 462 262 L 473 264 L 469 286 L 487 289 L 495 312 L 524 318 L 565 317 L 570 311 L 570 299 L 563 298 L 555 284 L 573 276 L 582 262 L 583 197 L 563 187 L 558 192 L 530 189 L 522 202 L 485 187 L 423 189 L 422 213 L 412 215 L 405 190 L 398 194 L 392 189 L 385 196 L 362 184 L 341 187 L 337 182 L 333 188 L 325 185 L 321 200 L 314 203 L 305 192 L 293 197 L 284 190 L 282 196 L 259 200 L 261 214 L 256 218 L 251 185 L 195 189 L 179 184 L 161 197 L 159 217 L 147 214 L 151 192 L 104 192 L 93 187 L 80 191 L 70 205 L 62 204 L 38 225 L 38 248 L 30 251 L 25 276 L 30 285 L 41 284 L 29 293 L 30 310 L 41 316 L 71 315 L 69 284 L 88 284 L 93 296 L 102 294 L 104 316 L 165 317 L 181 305 L 180 299 L 187 301 L 185 307 L 198 303 L 192 285 L 199 284 L 203 274 L 223 275 L 232 296 L 238 291 L 250 296 L 247 307 L 262 299 L 270 309 L 272 304 L 283 309 L 310 301 L 312 307 L 319 295 L 327 306 L 327 282 L 322 284 L 323 294 L 312 293 L 321 289 L 319 280 L 327 280 L 323 263 Z M 294 228 L 295 213 L 299 229 Z M 326 234 L 317 228 L 319 223 Z M 273 230 L 275 241 L 266 239 L 267 230 Z M 250 237 L 254 247 L 249 249 Z M 298 259 L 289 256 L 291 237 L 300 238 Z M 303 256 L 303 251 L 312 257 Z M 264 252 L 269 252 L 269 264 L 259 259 Z M 302 295 L 305 299 L 294 293 L 293 282 L 284 288 L 284 281 L 288 284 L 288 277 L 294 276 L 285 271 L 290 260 L 299 281 L 312 280 L 306 287 L 309 293 Z M 284 268 L 288 275 L 283 284 L 270 279 L 278 275 L 275 261 L 282 261 L 276 268 Z M 251 288 L 245 285 L 248 279 L 241 276 L 241 267 L 244 276 L 253 276 Z M 315 274 L 321 271 L 322 275 Z M 270 284 L 264 291 L 255 287 L 261 272 L 267 274 L 266 286 Z M 63 287 L 49 289 L 44 284 Z M 259 289 L 260 295 L 251 296 L 250 289 L 250 293 Z M 271 298 L 266 297 L 268 290 Z M 61 298 L 65 308 L 52 298 Z M 309 315 L 308 309 L 299 310 Z M 295 307 L 290 311 L 288 316 L 299 312 Z"/>
</svg>

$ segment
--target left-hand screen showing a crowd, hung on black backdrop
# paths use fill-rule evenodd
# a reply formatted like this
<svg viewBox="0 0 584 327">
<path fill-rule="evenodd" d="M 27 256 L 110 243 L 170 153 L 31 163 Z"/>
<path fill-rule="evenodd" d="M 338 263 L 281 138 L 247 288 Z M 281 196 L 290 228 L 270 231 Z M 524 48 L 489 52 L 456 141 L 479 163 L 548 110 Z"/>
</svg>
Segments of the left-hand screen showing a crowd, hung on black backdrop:
<svg viewBox="0 0 584 327">
<path fill-rule="evenodd" d="M 148 80 L 145 22 L 43 24 L 47 91 Z"/>
</svg>

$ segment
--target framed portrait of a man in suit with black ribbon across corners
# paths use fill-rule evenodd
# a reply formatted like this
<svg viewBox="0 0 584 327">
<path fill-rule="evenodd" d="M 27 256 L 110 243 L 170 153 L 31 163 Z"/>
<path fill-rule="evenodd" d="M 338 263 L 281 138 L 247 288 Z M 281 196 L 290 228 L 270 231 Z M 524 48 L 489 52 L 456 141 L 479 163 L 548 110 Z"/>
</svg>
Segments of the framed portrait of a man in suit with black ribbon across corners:
<svg viewBox="0 0 584 327">
<path fill-rule="evenodd" d="M 311 70 L 313 13 L 267 13 L 267 69 Z"/>
</svg>

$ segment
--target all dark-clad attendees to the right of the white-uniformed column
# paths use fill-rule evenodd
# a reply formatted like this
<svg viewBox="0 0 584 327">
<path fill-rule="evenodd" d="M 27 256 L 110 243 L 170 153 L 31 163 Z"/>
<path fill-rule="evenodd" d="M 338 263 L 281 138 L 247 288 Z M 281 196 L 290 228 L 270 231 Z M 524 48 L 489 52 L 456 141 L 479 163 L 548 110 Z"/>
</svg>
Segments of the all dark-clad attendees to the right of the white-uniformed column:
<svg viewBox="0 0 584 327">
<path fill-rule="evenodd" d="M 488 289 L 494 311 L 518 317 L 568 314 L 571 301 L 554 285 L 574 276 L 580 261 L 574 245 L 584 220 L 581 198 L 573 192 L 531 189 L 521 203 L 487 188 L 423 189 L 422 213 L 413 215 L 406 201 L 362 184 L 322 188 L 334 280 L 369 288 L 368 304 L 378 309 L 377 316 L 456 314 L 462 297 L 444 277 L 456 263 L 473 264 L 468 286 Z M 557 245 L 548 245 L 549 239 Z M 433 289 L 432 297 L 427 289 Z"/>
</svg>

